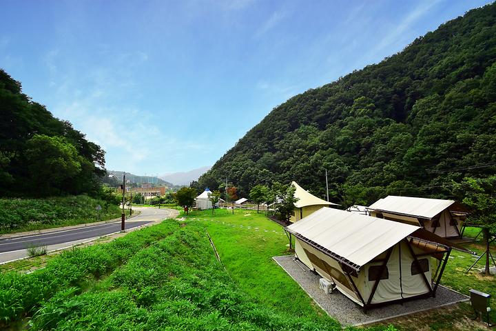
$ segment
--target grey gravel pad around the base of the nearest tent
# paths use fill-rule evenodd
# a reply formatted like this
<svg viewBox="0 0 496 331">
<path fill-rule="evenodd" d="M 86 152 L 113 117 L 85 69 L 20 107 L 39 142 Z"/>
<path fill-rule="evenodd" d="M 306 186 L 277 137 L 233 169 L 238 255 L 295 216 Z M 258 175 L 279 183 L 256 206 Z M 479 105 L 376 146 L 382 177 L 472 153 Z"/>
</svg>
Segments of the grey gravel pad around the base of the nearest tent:
<svg viewBox="0 0 496 331">
<path fill-rule="evenodd" d="M 340 321 L 342 325 L 369 324 L 406 314 L 413 314 L 422 310 L 439 308 L 442 305 L 451 305 L 469 299 L 466 295 L 440 285 L 437 288 L 435 298 L 386 305 L 385 307 L 373 308 L 365 314 L 359 305 L 344 297 L 338 290 L 335 290 L 332 294 L 325 294 L 320 290 L 320 276 L 314 274 L 308 268 L 300 266 L 302 263 L 297 264 L 293 261 L 292 255 L 273 257 L 273 259 L 320 305 L 320 308 L 325 310 L 329 316 Z"/>
</svg>

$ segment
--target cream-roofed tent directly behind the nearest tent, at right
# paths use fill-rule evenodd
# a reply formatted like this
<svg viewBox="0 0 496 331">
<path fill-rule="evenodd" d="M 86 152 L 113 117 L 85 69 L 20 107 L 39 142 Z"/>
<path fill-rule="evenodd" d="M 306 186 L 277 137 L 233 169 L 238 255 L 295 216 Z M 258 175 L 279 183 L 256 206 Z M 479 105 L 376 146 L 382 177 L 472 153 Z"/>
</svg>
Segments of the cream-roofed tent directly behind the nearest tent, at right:
<svg viewBox="0 0 496 331">
<path fill-rule="evenodd" d="M 371 216 L 421 226 L 444 238 L 459 238 L 467 210 L 453 200 L 389 195 L 369 208 Z"/>
</svg>

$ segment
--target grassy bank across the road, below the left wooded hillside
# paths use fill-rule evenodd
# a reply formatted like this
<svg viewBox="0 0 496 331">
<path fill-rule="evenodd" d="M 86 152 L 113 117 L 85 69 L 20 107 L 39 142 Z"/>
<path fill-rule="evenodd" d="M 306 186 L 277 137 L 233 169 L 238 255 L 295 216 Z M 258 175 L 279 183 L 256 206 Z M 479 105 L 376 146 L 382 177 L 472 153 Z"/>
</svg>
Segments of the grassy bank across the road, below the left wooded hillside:
<svg viewBox="0 0 496 331">
<path fill-rule="evenodd" d="M 101 205 L 102 210 L 95 210 Z M 129 211 L 126 210 L 128 214 Z M 47 199 L 0 199 L 0 234 L 56 228 L 121 217 L 117 205 L 85 195 Z"/>
</svg>

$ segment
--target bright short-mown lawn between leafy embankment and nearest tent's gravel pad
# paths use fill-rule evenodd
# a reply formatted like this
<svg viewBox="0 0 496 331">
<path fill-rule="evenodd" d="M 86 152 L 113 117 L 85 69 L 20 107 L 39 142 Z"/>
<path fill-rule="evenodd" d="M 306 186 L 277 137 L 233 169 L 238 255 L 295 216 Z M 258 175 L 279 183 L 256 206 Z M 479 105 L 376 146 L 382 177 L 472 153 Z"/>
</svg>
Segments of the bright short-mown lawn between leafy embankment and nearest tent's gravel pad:
<svg viewBox="0 0 496 331">
<path fill-rule="evenodd" d="M 247 210 L 235 210 L 233 215 L 231 210 L 220 209 L 214 216 L 208 210 L 193 212 L 188 219 L 204 221 L 227 271 L 252 297 L 296 316 L 326 315 L 273 261 L 272 257 L 291 254 L 280 225 Z"/>
</svg>

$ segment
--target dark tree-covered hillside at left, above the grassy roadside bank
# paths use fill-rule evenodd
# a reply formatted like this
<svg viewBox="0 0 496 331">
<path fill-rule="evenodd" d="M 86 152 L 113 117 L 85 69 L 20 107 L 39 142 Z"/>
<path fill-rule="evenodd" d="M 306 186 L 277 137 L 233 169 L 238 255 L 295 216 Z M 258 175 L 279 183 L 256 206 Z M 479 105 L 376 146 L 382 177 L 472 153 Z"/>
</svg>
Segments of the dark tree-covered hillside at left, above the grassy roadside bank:
<svg viewBox="0 0 496 331">
<path fill-rule="evenodd" d="M 0 195 L 94 193 L 105 152 L 34 102 L 0 69 Z"/>
</svg>

